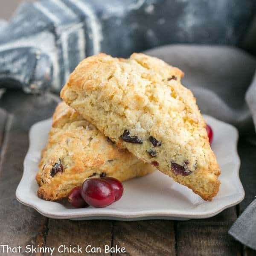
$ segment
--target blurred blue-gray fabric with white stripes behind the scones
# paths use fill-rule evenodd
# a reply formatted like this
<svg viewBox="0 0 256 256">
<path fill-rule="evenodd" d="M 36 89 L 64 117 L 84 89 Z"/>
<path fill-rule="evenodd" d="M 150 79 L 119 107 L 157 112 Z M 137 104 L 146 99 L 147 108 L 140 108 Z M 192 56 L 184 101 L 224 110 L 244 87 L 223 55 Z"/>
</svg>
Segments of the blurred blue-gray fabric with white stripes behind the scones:
<svg viewBox="0 0 256 256">
<path fill-rule="evenodd" d="M 99 52 L 128 57 L 174 42 L 241 46 L 255 10 L 253 0 L 22 1 L 0 33 L 1 86 L 58 92 L 79 61 Z M 254 48 L 253 38 L 246 42 Z"/>
</svg>

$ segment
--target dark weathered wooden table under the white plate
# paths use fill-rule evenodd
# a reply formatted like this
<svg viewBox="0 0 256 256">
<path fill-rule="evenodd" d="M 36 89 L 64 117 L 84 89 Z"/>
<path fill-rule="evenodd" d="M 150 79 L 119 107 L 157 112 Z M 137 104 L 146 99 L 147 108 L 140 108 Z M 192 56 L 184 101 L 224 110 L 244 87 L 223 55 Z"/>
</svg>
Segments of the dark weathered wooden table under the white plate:
<svg viewBox="0 0 256 256">
<path fill-rule="evenodd" d="M 13 247 L 28 244 L 51 247 L 60 244 L 79 244 L 84 247 L 91 244 L 97 247 L 107 244 L 125 247 L 124 255 L 132 256 L 249 256 L 256 253 L 227 234 L 231 224 L 255 196 L 256 167 L 252 160 L 256 147 L 243 138 L 239 140 L 240 177 L 246 197 L 239 206 L 226 209 L 213 218 L 131 222 L 55 220 L 17 202 L 15 189 L 23 172 L 23 159 L 29 146 L 29 128 L 35 122 L 50 117 L 57 102 L 58 97 L 49 93 L 32 96 L 7 91 L 0 98 L 0 244 Z"/>
</svg>

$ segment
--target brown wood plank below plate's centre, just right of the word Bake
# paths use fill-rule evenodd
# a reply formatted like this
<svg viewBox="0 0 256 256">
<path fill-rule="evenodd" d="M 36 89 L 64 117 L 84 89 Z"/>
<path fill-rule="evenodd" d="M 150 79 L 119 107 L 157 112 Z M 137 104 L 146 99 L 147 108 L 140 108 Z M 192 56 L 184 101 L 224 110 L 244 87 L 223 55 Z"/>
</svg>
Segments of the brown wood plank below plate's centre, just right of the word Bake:
<svg viewBox="0 0 256 256">
<path fill-rule="evenodd" d="M 117 255 L 175 255 L 174 221 L 115 221 L 113 246 L 125 247 Z"/>
</svg>

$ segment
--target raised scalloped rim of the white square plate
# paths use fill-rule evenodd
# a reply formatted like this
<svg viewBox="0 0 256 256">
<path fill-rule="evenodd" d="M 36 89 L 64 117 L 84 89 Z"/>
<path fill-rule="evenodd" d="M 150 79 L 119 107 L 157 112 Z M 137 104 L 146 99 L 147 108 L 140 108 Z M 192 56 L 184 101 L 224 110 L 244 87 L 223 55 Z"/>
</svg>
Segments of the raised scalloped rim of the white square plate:
<svg viewBox="0 0 256 256">
<path fill-rule="evenodd" d="M 55 218 L 55 219 L 109 219 L 109 220 L 121 220 L 121 221 L 135 221 L 135 220 L 143 220 L 143 219 L 179 219 L 179 220 L 188 220 L 191 218 L 198 219 L 198 218 L 210 218 L 212 216 L 217 215 L 218 213 L 222 212 L 224 209 L 227 209 L 229 207 L 235 206 L 236 204 L 239 204 L 245 196 L 244 188 L 242 186 L 240 177 L 239 177 L 239 171 L 240 171 L 240 165 L 241 165 L 241 160 L 239 158 L 239 154 L 237 151 L 237 143 L 239 139 L 239 133 L 236 127 L 233 125 L 223 122 L 221 120 L 218 120 L 212 116 L 209 115 L 203 115 L 207 119 L 213 119 L 215 122 L 221 122 L 224 125 L 230 126 L 230 128 L 235 131 L 235 140 L 234 140 L 234 151 L 233 154 L 235 158 L 233 159 L 233 162 L 236 164 L 236 178 L 238 179 L 238 184 L 239 184 L 239 191 L 240 193 L 236 193 L 237 197 L 236 200 L 230 202 L 230 204 L 222 205 L 220 208 L 215 207 L 213 210 L 207 209 L 201 212 L 191 212 L 191 210 L 184 212 L 181 210 L 176 210 L 168 213 L 168 210 L 143 210 L 143 212 L 138 213 L 138 212 L 124 212 L 124 211 L 119 211 L 116 209 L 111 209 L 111 208 L 101 208 L 104 209 L 104 212 L 98 213 L 96 212 L 97 208 L 90 208 L 90 209 L 96 209 L 94 212 L 90 210 L 90 212 L 49 212 L 49 210 L 44 210 L 42 207 L 40 207 L 40 204 L 38 202 L 29 202 L 26 197 L 23 196 L 23 193 L 20 193 L 20 189 L 22 189 L 22 183 L 23 180 L 26 176 L 26 173 L 29 172 L 27 169 L 27 162 L 29 161 L 29 154 L 32 148 L 32 143 L 31 143 L 31 134 L 35 130 L 36 126 L 41 125 L 42 123 L 45 122 L 51 122 L 52 118 L 49 119 L 44 119 L 40 122 L 36 122 L 33 124 L 29 130 L 29 148 L 26 153 L 26 156 L 23 161 L 23 174 L 20 179 L 20 182 L 17 186 L 15 196 L 17 198 L 17 201 L 19 201 L 21 204 L 24 204 L 26 206 L 32 207 L 35 209 L 37 212 L 39 212 L 41 215 L 44 215 L 47 218 Z M 72 210 L 78 210 L 78 209 L 72 209 Z M 117 211 L 116 213 L 113 213 L 112 211 Z"/>
</svg>

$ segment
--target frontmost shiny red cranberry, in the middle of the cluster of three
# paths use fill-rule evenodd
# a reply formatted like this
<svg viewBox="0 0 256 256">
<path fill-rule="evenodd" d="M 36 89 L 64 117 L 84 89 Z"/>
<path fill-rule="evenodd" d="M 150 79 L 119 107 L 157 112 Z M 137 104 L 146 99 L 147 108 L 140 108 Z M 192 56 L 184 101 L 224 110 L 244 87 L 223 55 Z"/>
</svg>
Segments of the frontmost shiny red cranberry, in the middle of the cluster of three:
<svg viewBox="0 0 256 256">
<path fill-rule="evenodd" d="M 81 196 L 87 204 L 97 208 L 106 207 L 115 201 L 112 186 L 102 178 L 84 180 Z"/>
</svg>

